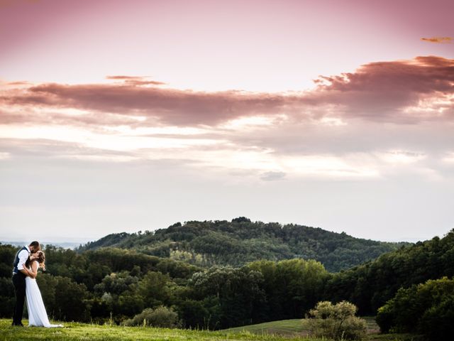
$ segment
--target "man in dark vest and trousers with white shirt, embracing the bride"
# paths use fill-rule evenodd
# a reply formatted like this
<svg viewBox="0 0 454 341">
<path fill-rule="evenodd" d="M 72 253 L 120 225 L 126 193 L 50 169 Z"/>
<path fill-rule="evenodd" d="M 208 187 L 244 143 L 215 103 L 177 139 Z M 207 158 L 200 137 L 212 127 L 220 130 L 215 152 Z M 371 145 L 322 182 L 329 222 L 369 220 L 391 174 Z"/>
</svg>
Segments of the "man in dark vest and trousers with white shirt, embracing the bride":
<svg viewBox="0 0 454 341">
<path fill-rule="evenodd" d="M 13 323 L 12 325 L 22 324 L 23 303 L 26 298 L 26 276 L 27 271 L 23 269 L 23 264 L 26 263 L 30 254 L 40 251 L 40 243 L 31 242 L 28 247 L 23 247 L 17 251 L 14 258 L 13 269 L 13 285 L 16 292 L 16 305 L 14 307 Z"/>
</svg>

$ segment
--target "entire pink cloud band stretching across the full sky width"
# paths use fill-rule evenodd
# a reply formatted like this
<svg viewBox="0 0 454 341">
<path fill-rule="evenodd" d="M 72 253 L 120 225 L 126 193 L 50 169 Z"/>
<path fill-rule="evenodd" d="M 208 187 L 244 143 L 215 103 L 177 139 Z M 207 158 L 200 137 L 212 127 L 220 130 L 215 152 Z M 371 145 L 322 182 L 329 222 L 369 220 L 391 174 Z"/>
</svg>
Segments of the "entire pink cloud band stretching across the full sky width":
<svg viewBox="0 0 454 341">
<path fill-rule="evenodd" d="M 128 117 L 145 117 L 143 125 L 153 122 L 178 126 L 213 126 L 247 116 L 286 114 L 297 120 L 341 117 L 374 121 L 415 123 L 421 120 L 453 119 L 454 60 L 436 56 L 413 60 L 368 63 L 355 72 L 316 80 L 309 92 L 251 93 L 243 91 L 194 92 L 153 85 L 144 77 L 108 76 L 114 84 L 64 85 L 46 83 L 0 92 L 0 108 L 33 108 L 45 112 L 47 119 L 75 124 L 118 124 Z M 10 83 L 11 84 L 11 83 Z M 152 85 L 152 86 L 150 86 Z M 438 114 L 418 107 L 422 100 L 436 102 Z M 439 101 L 438 101 L 439 102 Z M 5 108 L 8 108 L 6 110 Z M 52 114 L 60 108 L 82 109 L 90 114 L 70 117 Z M 17 110 L 16 110 L 17 111 Z M 24 119 L 23 110 L 16 117 Z M 441 113 L 441 114 L 440 114 Z M 13 113 L 2 114 L 5 124 L 14 121 Z M 60 115 L 60 116 L 59 116 Z"/>
</svg>

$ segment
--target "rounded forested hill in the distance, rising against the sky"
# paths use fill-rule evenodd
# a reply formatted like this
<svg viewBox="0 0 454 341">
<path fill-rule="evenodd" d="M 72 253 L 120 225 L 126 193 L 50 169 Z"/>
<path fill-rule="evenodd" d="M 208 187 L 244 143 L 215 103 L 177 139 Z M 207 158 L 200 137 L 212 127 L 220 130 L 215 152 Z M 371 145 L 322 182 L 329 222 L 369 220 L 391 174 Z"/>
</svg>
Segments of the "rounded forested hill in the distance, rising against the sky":
<svg viewBox="0 0 454 341">
<path fill-rule="evenodd" d="M 358 239 L 297 224 L 226 220 L 177 222 L 166 229 L 133 234 L 109 234 L 77 251 L 118 247 L 198 266 L 242 266 L 259 259 L 316 259 L 328 271 L 341 271 L 375 259 L 403 244 Z"/>
</svg>

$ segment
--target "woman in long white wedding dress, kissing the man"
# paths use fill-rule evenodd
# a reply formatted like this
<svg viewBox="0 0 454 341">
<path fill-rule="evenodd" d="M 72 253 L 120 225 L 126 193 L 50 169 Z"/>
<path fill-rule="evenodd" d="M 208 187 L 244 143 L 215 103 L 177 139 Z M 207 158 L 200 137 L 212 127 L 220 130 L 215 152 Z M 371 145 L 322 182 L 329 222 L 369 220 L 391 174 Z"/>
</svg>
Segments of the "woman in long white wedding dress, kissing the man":
<svg viewBox="0 0 454 341">
<path fill-rule="evenodd" d="M 31 254 L 30 258 L 23 266 L 23 269 L 26 269 L 28 273 L 28 276 L 26 277 L 28 326 L 35 325 L 46 328 L 63 327 L 63 325 L 51 325 L 49 323 L 48 313 L 45 311 L 40 288 L 38 288 L 38 283 L 36 283 L 38 268 L 45 269 L 44 261 L 44 252 L 38 251 Z"/>
</svg>

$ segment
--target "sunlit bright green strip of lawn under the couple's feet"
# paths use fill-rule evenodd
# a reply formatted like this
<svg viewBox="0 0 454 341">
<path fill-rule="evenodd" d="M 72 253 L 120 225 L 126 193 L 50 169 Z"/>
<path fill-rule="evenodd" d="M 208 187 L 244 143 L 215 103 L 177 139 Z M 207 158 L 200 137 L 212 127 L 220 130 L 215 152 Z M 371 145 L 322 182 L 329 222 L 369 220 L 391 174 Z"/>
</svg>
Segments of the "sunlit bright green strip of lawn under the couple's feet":
<svg viewBox="0 0 454 341">
<path fill-rule="evenodd" d="M 26 325 L 27 321 L 23 321 Z M 0 340 L 263 340 L 263 341 L 304 341 L 316 339 L 283 337 L 278 335 L 257 335 L 252 332 L 210 332 L 206 330 L 182 330 L 166 328 L 120 327 L 90 325 L 84 323 L 63 323 L 64 328 L 11 327 L 11 320 L 0 320 Z"/>
</svg>

